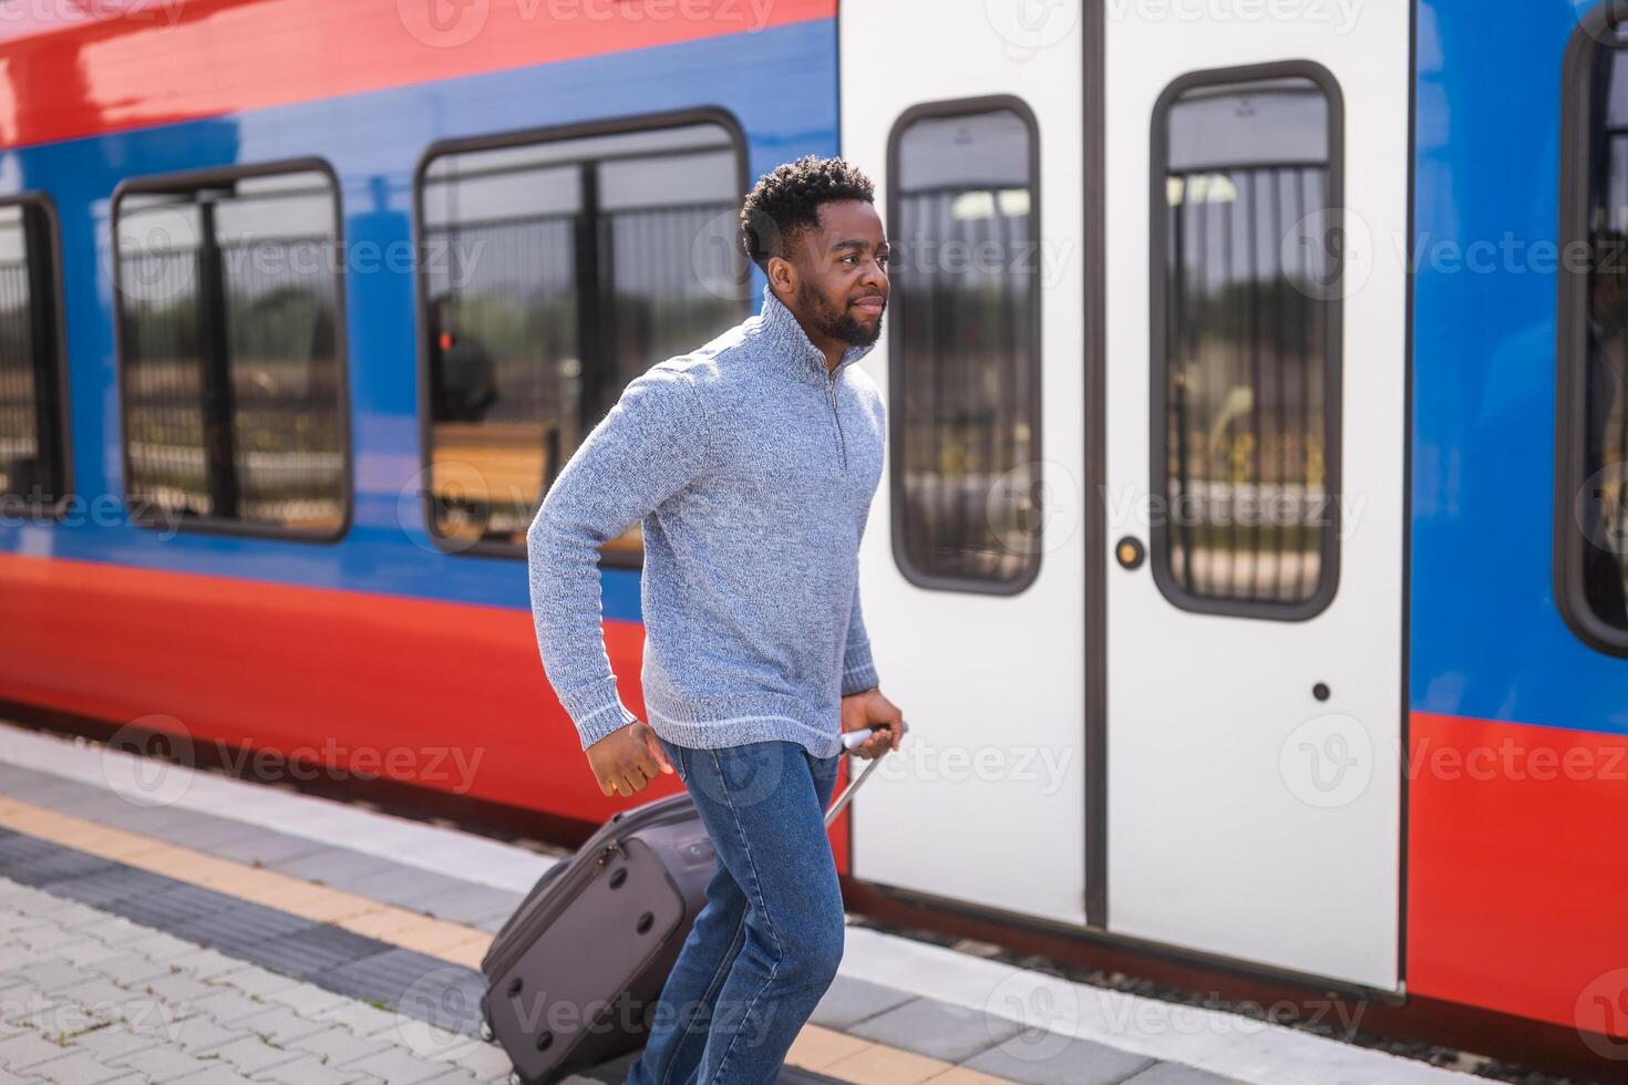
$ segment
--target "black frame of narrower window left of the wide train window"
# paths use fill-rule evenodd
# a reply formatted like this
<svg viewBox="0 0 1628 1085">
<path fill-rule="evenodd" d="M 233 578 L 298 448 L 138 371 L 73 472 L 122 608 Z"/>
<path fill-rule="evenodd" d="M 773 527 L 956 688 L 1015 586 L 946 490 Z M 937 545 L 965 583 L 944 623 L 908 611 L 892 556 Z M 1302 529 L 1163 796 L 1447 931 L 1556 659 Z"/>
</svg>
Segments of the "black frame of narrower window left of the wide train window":
<svg viewBox="0 0 1628 1085">
<path fill-rule="evenodd" d="M 332 190 L 334 200 L 334 249 L 339 252 L 340 259 L 335 262 L 335 288 L 334 288 L 334 364 L 335 386 L 339 389 L 339 402 L 335 403 L 335 412 L 339 416 L 339 447 L 340 447 L 340 511 L 339 524 L 332 530 L 309 530 L 301 527 L 280 527 L 277 524 L 262 524 L 256 521 L 243 521 L 234 517 L 221 516 L 174 516 L 163 511 L 151 511 L 145 508 L 145 503 L 135 501 L 130 496 L 129 480 L 130 480 L 130 441 L 129 441 L 129 371 L 130 366 L 125 359 L 125 343 L 124 343 L 124 309 L 120 299 L 124 298 L 122 272 L 119 259 L 119 207 L 127 195 L 186 195 L 195 192 L 197 189 L 207 189 L 226 182 L 236 182 L 247 177 L 265 177 L 277 174 L 295 174 L 295 172 L 319 172 L 327 177 L 329 189 Z M 350 524 L 355 516 L 357 504 L 357 483 L 355 483 L 355 449 L 352 447 L 352 400 L 350 400 L 350 337 L 348 337 L 348 251 L 345 247 L 345 215 L 344 215 L 344 197 L 340 192 L 339 174 L 327 163 L 327 159 L 316 156 L 304 158 L 283 158 L 269 163 L 249 163 L 241 166 L 215 166 L 208 169 L 189 169 L 169 174 L 151 174 L 142 177 L 125 177 L 120 181 L 109 197 L 109 241 L 107 252 L 112 262 L 112 332 L 114 332 L 114 368 L 117 369 L 117 390 L 119 390 L 119 464 L 124 472 L 122 490 L 124 490 L 124 506 L 125 514 L 130 522 L 137 527 L 148 527 L 155 530 L 169 532 L 195 532 L 199 535 L 234 535 L 243 538 L 274 538 L 285 542 L 309 542 L 309 543 L 337 543 L 350 532 Z"/>
</svg>

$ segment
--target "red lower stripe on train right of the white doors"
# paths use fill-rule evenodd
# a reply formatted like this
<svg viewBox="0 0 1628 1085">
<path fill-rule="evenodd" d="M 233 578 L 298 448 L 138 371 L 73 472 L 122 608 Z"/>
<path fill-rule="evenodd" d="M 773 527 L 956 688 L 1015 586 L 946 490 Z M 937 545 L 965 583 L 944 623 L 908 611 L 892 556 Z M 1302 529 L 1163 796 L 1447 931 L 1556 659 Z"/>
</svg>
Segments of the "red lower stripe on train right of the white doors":
<svg viewBox="0 0 1628 1085">
<path fill-rule="evenodd" d="M 1628 1036 L 1628 737 L 1415 712 L 1407 768 L 1408 991 Z"/>
</svg>

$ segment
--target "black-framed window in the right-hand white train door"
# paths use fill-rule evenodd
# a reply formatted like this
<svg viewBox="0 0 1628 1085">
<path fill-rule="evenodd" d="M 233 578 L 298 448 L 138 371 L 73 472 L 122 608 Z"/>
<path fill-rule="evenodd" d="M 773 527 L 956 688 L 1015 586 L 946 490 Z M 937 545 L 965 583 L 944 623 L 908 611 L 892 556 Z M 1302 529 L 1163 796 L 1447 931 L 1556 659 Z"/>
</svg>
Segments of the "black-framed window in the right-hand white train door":
<svg viewBox="0 0 1628 1085">
<path fill-rule="evenodd" d="M 1333 597 L 1338 133 L 1309 65 L 1188 76 L 1154 114 L 1153 569 L 1188 610 Z"/>
</svg>

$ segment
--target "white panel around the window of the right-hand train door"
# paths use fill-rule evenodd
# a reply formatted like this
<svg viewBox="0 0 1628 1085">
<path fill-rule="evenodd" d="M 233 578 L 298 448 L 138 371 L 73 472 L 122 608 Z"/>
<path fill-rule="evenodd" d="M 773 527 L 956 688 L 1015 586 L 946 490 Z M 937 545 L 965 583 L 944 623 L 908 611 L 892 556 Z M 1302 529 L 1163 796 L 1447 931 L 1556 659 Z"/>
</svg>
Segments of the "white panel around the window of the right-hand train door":
<svg viewBox="0 0 1628 1085">
<path fill-rule="evenodd" d="M 1136 11 L 1136 5 L 1130 5 Z M 1148 538 L 1149 130 L 1190 72 L 1311 60 L 1343 98 L 1338 587 L 1304 621 L 1179 608 L 1151 563 L 1109 584 L 1109 929 L 1398 984 L 1408 11 L 1107 24 L 1109 540 Z M 1195 197 L 1197 198 L 1197 197 Z M 1162 264 L 1162 254 L 1161 254 Z M 1312 695 L 1328 686 L 1327 701 Z"/>
</svg>

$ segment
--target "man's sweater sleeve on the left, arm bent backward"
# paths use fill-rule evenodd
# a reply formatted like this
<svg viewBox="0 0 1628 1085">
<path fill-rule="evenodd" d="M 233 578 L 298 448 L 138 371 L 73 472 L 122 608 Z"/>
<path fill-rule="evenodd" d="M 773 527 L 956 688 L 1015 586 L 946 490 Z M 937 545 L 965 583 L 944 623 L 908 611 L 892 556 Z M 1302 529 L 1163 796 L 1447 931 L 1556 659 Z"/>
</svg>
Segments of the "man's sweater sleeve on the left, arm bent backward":
<svg viewBox="0 0 1628 1085">
<path fill-rule="evenodd" d="M 684 490 L 707 457 L 694 384 L 682 371 L 650 369 L 576 449 L 526 530 L 542 669 L 584 750 L 637 719 L 606 654 L 599 548 Z"/>
</svg>

